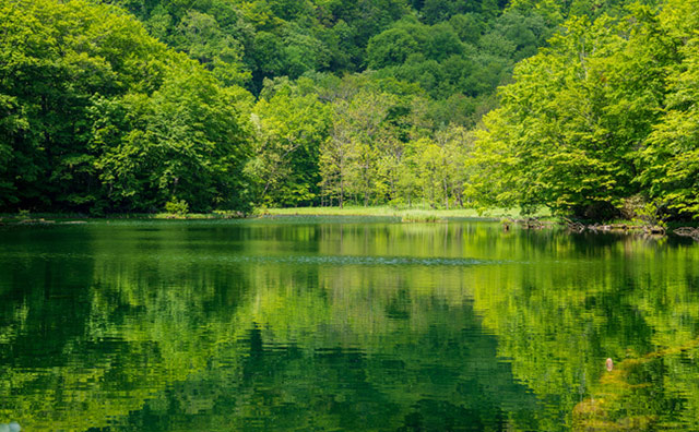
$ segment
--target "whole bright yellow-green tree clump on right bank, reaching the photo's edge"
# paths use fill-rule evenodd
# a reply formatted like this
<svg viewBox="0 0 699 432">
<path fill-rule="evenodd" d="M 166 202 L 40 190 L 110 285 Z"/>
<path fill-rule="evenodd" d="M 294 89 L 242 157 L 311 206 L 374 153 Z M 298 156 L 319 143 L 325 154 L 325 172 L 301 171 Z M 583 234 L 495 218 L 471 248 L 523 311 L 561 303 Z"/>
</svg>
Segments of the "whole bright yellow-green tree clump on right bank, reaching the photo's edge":
<svg viewBox="0 0 699 432">
<path fill-rule="evenodd" d="M 550 48 L 522 61 L 478 132 L 470 196 L 606 218 L 642 194 L 656 208 L 698 215 L 694 99 L 684 84 L 695 82 L 697 4 L 667 5 L 570 19 Z"/>
</svg>

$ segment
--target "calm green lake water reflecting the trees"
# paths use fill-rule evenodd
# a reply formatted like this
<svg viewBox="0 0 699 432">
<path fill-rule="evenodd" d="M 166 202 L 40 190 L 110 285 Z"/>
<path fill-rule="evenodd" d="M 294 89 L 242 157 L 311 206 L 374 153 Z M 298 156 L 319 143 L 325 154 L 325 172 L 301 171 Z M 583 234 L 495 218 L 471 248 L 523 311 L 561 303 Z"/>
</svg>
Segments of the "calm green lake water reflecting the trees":
<svg viewBox="0 0 699 432">
<path fill-rule="evenodd" d="M 699 430 L 698 337 L 675 238 L 0 227 L 0 430 Z"/>
</svg>

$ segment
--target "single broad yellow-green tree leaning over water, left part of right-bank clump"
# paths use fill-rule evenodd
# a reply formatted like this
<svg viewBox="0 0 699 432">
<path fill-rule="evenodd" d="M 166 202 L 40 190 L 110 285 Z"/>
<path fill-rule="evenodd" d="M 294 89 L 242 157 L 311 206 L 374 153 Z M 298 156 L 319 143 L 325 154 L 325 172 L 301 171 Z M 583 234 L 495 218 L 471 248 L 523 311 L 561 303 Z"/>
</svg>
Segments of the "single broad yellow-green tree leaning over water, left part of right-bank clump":
<svg viewBox="0 0 699 432">
<path fill-rule="evenodd" d="M 635 149 L 660 100 L 635 91 L 657 82 L 633 71 L 632 44 L 648 40 L 642 16 L 635 22 L 570 20 L 552 48 L 518 65 L 481 133 L 474 199 L 608 217 L 638 192 Z"/>
</svg>

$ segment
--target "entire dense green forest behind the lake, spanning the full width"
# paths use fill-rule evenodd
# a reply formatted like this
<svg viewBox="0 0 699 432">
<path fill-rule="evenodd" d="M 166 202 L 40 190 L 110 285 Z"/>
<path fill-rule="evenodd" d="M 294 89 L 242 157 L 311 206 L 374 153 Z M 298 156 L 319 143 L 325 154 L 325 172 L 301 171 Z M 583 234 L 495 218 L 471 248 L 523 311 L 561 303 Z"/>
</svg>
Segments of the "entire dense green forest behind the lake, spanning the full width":
<svg viewBox="0 0 699 432">
<path fill-rule="evenodd" d="M 0 211 L 699 215 L 699 1 L 9 0 Z"/>
</svg>

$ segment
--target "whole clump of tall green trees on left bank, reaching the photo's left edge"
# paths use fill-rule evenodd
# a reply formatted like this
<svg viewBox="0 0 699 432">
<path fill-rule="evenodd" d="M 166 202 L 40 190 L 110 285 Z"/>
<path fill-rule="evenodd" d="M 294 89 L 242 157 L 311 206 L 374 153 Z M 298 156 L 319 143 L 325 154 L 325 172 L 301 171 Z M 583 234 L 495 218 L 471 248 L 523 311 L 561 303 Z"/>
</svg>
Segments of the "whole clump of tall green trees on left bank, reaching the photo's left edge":
<svg viewBox="0 0 699 432">
<path fill-rule="evenodd" d="M 0 22 L 2 208 L 247 206 L 245 91 L 112 7 L 12 0 Z"/>
</svg>

